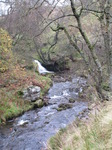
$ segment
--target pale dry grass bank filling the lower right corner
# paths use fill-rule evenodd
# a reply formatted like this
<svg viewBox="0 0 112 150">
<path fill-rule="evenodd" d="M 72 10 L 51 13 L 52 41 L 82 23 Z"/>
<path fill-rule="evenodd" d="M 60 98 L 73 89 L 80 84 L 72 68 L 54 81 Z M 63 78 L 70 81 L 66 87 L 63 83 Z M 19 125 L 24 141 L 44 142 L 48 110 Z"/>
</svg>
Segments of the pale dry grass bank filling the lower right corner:
<svg viewBox="0 0 112 150">
<path fill-rule="evenodd" d="M 90 119 L 73 123 L 49 140 L 48 150 L 111 150 L 112 102 L 91 112 Z"/>
</svg>

